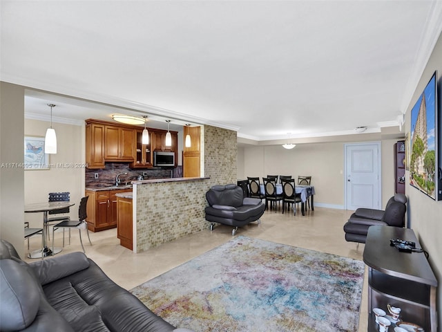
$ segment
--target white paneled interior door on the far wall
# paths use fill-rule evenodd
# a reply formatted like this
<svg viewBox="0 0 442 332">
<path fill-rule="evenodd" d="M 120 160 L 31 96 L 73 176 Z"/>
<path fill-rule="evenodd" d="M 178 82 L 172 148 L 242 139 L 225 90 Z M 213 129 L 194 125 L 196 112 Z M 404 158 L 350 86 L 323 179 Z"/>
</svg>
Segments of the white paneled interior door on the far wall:
<svg viewBox="0 0 442 332">
<path fill-rule="evenodd" d="M 345 207 L 381 209 L 381 143 L 345 145 Z"/>
</svg>

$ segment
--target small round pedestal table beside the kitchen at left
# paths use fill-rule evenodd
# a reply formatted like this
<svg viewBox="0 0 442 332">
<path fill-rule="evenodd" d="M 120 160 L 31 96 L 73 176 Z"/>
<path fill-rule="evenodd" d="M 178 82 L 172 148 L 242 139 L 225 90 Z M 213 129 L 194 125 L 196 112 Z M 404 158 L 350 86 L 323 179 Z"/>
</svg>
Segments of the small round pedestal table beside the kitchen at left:
<svg viewBox="0 0 442 332">
<path fill-rule="evenodd" d="M 39 250 L 34 250 L 29 253 L 29 258 L 43 258 L 50 255 L 55 255 L 61 252 L 61 248 L 55 247 L 54 252 L 48 248 L 48 243 L 46 241 L 46 223 L 48 221 L 48 212 L 63 210 L 66 208 L 70 208 L 75 205 L 75 203 L 71 203 L 70 201 L 56 201 L 56 202 L 42 202 L 42 203 L 30 203 L 25 205 L 25 213 L 35 213 L 35 212 L 43 212 L 43 231 L 41 236 L 43 237 L 43 248 Z M 54 241 L 54 239 L 52 239 Z"/>
</svg>

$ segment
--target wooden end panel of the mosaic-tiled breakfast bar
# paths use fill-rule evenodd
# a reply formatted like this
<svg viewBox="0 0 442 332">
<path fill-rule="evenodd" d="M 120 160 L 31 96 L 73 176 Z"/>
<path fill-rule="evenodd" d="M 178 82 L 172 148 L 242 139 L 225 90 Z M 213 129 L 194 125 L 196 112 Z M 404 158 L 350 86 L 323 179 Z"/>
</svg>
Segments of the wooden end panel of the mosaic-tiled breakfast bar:
<svg viewBox="0 0 442 332">
<path fill-rule="evenodd" d="M 132 199 L 117 197 L 117 237 L 119 244 L 133 250 Z"/>
</svg>

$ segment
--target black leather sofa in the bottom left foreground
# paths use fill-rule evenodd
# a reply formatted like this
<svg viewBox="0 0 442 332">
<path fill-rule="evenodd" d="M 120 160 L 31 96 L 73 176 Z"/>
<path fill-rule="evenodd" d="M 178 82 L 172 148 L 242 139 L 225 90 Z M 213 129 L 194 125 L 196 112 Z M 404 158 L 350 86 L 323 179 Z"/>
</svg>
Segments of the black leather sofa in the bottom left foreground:
<svg viewBox="0 0 442 332">
<path fill-rule="evenodd" d="M 155 315 L 83 252 L 27 264 L 0 242 L 0 331 L 191 332 Z"/>
</svg>

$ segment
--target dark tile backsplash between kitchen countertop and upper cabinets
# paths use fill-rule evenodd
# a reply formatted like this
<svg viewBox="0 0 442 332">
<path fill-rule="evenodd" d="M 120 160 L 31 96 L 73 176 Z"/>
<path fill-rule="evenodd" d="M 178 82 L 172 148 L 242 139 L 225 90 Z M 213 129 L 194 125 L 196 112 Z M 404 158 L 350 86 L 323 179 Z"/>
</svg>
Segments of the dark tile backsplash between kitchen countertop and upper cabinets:
<svg viewBox="0 0 442 332">
<path fill-rule="evenodd" d="M 99 187 L 102 185 L 115 185 L 115 178 L 119 173 L 127 173 L 120 175 L 121 183 L 131 183 L 137 180 L 138 176 L 144 175 L 144 180 L 154 178 L 181 178 L 182 166 L 173 168 L 131 168 L 128 163 L 106 163 L 104 169 L 86 169 L 86 187 Z M 98 175 L 95 178 L 95 174 Z"/>
</svg>

